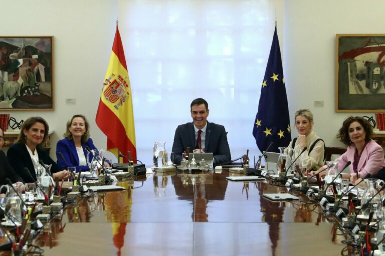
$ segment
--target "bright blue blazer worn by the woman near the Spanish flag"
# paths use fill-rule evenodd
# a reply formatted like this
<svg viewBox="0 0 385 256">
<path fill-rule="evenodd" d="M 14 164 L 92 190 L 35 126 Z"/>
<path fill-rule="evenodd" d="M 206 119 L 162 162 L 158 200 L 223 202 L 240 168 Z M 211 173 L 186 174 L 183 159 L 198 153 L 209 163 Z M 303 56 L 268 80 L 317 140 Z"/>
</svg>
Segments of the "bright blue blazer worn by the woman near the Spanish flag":
<svg viewBox="0 0 385 256">
<path fill-rule="evenodd" d="M 92 143 L 91 138 L 89 138 L 87 142 L 82 142 L 83 152 L 84 155 L 87 157 L 86 146 L 88 146 L 90 149 L 96 149 L 96 147 Z M 65 160 L 60 156 L 59 153 L 63 154 Z M 76 151 L 74 140 L 69 140 L 67 138 L 59 140 L 56 144 L 56 158 L 58 159 L 58 164 L 62 168 L 73 166 L 76 167 L 77 172 L 80 169 L 82 169 L 82 171 L 90 170 L 90 167 L 88 165 L 79 165 L 79 156 L 78 152 Z M 89 159 L 89 161 L 91 161 L 91 159 Z"/>
</svg>

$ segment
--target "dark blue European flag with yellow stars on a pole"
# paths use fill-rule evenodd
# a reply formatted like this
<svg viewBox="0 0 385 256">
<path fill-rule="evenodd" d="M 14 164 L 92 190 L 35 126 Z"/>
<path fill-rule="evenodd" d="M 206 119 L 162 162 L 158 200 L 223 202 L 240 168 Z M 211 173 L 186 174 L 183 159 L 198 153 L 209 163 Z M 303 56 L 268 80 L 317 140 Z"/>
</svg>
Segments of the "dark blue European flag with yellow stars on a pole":
<svg viewBox="0 0 385 256">
<path fill-rule="evenodd" d="M 273 43 L 261 86 L 253 135 L 261 152 L 266 151 L 271 142 L 273 145 L 269 151 L 279 152 L 278 147 L 289 145 L 291 134 L 277 26 L 274 30 Z"/>
</svg>

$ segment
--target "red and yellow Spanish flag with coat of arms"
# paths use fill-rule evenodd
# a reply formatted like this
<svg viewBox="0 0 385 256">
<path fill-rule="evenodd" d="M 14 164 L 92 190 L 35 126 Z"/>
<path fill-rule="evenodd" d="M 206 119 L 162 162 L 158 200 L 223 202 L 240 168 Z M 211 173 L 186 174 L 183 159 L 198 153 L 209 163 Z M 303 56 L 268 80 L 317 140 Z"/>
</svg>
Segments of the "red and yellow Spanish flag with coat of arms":
<svg viewBox="0 0 385 256">
<path fill-rule="evenodd" d="M 96 113 L 96 124 L 107 136 L 107 150 L 116 155 L 116 149 L 122 154 L 126 154 L 129 150 L 132 158 L 136 159 L 131 86 L 117 25 L 110 63 Z"/>
</svg>

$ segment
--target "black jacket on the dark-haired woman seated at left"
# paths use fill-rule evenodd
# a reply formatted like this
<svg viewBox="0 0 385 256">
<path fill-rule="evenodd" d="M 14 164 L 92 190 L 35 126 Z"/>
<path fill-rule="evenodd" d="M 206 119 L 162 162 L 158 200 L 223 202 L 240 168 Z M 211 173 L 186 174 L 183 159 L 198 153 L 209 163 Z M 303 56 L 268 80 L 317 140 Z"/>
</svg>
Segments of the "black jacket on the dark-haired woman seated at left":
<svg viewBox="0 0 385 256">
<path fill-rule="evenodd" d="M 38 152 L 39 160 L 42 160 L 45 164 L 52 164 L 51 173 L 55 173 L 63 170 L 62 167 L 56 164 L 54 160 L 50 157 L 48 152 L 45 149 L 36 148 Z M 22 177 L 25 182 L 34 182 L 36 180 L 35 167 L 32 162 L 30 153 L 27 150 L 27 146 L 24 143 L 16 143 L 12 145 L 7 151 L 8 160 L 15 172 Z M 24 168 L 28 168 L 32 177 L 35 180 L 32 180 Z"/>
</svg>

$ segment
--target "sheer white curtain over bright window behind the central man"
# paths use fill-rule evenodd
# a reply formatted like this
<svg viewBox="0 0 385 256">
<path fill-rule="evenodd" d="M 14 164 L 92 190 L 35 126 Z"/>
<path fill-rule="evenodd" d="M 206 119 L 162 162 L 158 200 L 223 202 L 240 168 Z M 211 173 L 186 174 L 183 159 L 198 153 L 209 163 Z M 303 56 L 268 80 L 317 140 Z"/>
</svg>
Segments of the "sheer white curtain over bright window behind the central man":
<svg viewBox="0 0 385 256">
<path fill-rule="evenodd" d="M 152 162 L 154 141 L 171 151 L 199 97 L 228 131 L 233 159 L 259 154 L 253 123 L 282 9 L 282 0 L 118 0 L 140 160 Z"/>
</svg>

